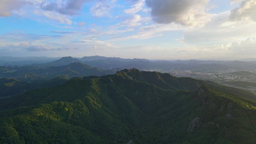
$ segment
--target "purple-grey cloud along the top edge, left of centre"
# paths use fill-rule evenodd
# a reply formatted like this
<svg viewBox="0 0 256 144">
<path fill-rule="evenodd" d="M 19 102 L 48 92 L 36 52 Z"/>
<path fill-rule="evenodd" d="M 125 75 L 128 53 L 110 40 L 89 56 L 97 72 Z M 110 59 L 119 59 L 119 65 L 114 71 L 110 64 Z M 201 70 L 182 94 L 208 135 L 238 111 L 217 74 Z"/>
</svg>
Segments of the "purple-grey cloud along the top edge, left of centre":
<svg viewBox="0 0 256 144">
<path fill-rule="evenodd" d="M 85 1 L 87 0 L 68 0 L 65 3 L 42 3 L 41 8 L 43 10 L 56 11 L 63 15 L 77 15 Z"/>
</svg>

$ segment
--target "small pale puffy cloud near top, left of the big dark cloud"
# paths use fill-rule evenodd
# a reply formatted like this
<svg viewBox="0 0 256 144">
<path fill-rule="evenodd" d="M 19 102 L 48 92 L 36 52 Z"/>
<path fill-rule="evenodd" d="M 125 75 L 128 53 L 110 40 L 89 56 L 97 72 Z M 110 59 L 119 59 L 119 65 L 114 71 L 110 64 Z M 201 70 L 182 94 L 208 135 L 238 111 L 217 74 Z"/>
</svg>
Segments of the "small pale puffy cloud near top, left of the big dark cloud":
<svg viewBox="0 0 256 144">
<path fill-rule="evenodd" d="M 93 16 L 97 17 L 109 16 L 109 10 L 110 6 L 100 1 L 91 8 L 91 13 Z"/>
</svg>

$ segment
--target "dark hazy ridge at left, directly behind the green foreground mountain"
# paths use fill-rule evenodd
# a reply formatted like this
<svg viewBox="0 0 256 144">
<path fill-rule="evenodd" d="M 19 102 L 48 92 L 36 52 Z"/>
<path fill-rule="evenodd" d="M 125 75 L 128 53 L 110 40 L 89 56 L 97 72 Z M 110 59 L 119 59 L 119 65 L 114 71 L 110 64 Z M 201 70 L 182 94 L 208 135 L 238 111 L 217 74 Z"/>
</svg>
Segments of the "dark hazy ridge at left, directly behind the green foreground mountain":
<svg viewBox="0 0 256 144">
<path fill-rule="evenodd" d="M 25 67 L 0 67 L 0 77 L 13 77 L 22 81 L 35 79 L 52 79 L 54 77 L 83 77 L 83 76 L 103 76 L 114 74 L 116 71 L 104 71 L 98 68 L 92 68 L 86 64 L 73 62 L 63 66 L 29 65 Z"/>
</svg>

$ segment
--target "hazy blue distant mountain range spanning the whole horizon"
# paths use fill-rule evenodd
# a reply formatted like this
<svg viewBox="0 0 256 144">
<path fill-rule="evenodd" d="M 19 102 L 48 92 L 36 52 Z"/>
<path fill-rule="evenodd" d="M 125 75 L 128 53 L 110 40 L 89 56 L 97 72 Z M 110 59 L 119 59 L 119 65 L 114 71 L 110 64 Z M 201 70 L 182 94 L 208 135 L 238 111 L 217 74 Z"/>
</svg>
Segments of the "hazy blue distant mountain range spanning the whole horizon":
<svg viewBox="0 0 256 144">
<path fill-rule="evenodd" d="M 12 59 L 11 61 L 7 61 Z M 49 57 L 28 57 L 21 58 L 21 61 L 16 61 L 19 58 L 12 57 L 0 57 L 0 65 L 2 66 L 20 66 L 20 65 L 34 65 L 40 67 L 48 66 L 63 66 L 69 65 L 73 62 L 80 62 L 82 64 L 89 65 L 90 67 L 97 67 L 101 70 L 109 70 L 113 68 L 138 68 L 143 69 L 197 69 L 197 70 L 250 70 L 256 69 L 256 61 L 199 61 L 195 59 L 191 60 L 176 60 L 176 61 L 150 61 L 148 59 L 123 59 L 115 57 L 104 56 L 85 56 L 83 58 L 72 58 L 71 56 L 63 58 L 49 58 Z M 26 59 L 23 61 L 22 59 Z M 253 60 L 253 59 L 252 59 Z"/>
</svg>

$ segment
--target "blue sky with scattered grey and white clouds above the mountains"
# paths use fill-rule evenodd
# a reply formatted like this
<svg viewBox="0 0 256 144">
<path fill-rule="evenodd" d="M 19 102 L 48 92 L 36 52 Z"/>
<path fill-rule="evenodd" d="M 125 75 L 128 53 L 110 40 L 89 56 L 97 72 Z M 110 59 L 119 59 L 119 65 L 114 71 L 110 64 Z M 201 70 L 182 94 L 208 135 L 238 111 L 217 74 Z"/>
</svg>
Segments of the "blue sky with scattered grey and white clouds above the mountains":
<svg viewBox="0 0 256 144">
<path fill-rule="evenodd" d="M 0 0 L 0 56 L 256 58 L 256 0 Z"/>
</svg>

